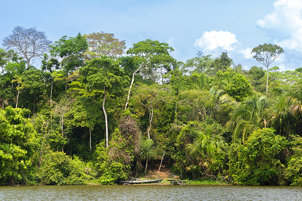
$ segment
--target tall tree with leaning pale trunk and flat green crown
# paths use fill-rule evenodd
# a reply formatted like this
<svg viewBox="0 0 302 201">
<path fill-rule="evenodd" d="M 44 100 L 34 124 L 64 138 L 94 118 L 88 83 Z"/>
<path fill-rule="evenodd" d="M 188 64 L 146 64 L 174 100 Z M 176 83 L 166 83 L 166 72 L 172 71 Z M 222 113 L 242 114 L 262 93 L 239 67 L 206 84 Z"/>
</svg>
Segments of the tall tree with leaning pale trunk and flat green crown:
<svg viewBox="0 0 302 201">
<path fill-rule="evenodd" d="M 137 62 L 139 62 L 140 66 L 134 72 L 132 72 L 132 80 L 128 91 L 125 110 L 127 109 L 127 105 L 129 103 L 129 96 L 134 82 L 134 75 L 150 63 L 161 63 L 161 61 L 164 59 L 165 61 L 168 61 L 168 58 L 171 58 L 172 60 L 172 57 L 169 55 L 169 52 L 172 51 L 174 51 L 174 49 L 169 47 L 167 43 L 159 42 L 157 40 L 153 41 L 150 39 L 134 43 L 133 47 L 127 50 L 126 53 L 131 55 Z"/>
</svg>

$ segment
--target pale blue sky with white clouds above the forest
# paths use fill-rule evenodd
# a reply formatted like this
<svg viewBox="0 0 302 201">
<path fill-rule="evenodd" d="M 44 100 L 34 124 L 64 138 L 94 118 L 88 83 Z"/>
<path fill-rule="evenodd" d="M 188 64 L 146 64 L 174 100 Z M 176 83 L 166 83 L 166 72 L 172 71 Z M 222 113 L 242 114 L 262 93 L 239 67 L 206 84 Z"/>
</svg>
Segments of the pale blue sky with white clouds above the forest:
<svg viewBox="0 0 302 201">
<path fill-rule="evenodd" d="M 125 40 L 127 49 L 146 39 L 168 43 L 183 62 L 198 51 L 212 58 L 228 52 L 246 70 L 263 67 L 251 51 L 271 43 L 284 53 L 270 68 L 302 67 L 302 0 L 13 0 L 0 8 L 0 48 L 15 26 L 36 27 L 53 42 L 103 31 Z"/>
</svg>

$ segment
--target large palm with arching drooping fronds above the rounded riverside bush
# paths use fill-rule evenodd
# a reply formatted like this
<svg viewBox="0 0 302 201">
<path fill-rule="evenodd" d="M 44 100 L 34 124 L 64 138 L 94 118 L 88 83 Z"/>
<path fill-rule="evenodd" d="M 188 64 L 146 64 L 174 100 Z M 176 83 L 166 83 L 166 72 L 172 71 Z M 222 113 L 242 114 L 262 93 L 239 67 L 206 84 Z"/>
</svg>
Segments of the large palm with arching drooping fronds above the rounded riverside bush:
<svg viewBox="0 0 302 201">
<path fill-rule="evenodd" d="M 226 123 L 226 128 L 233 132 L 233 140 L 237 140 L 243 131 L 242 142 L 246 141 L 247 134 L 256 126 L 266 127 L 263 110 L 268 106 L 268 99 L 257 93 L 249 96 L 244 102 L 239 103 L 231 114 L 231 119 Z"/>
</svg>

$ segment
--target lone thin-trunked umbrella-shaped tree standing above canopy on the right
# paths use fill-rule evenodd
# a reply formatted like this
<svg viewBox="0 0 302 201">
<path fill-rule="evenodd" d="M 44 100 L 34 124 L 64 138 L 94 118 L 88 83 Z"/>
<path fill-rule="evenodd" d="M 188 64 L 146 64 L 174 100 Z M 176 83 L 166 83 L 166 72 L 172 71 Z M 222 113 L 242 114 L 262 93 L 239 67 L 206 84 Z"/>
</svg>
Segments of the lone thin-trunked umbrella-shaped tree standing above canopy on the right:
<svg viewBox="0 0 302 201">
<path fill-rule="evenodd" d="M 275 61 L 275 59 L 278 58 L 278 56 L 283 52 L 284 50 L 280 46 L 266 43 L 252 49 L 251 54 L 255 53 L 253 58 L 255 58 L 258 63 L 263 64 L 267 68 L 266 93 L 268 87 L 268 66 L 273 61 Z"/>
</svg>

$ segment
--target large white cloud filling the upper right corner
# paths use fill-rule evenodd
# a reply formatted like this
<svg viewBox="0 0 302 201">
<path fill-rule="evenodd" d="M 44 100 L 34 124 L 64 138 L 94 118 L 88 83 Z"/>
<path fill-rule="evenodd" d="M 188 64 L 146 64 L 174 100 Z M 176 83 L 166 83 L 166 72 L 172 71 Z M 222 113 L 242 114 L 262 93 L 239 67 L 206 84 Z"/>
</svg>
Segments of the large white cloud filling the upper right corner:
<svg viewBox="0 0 302 201">
<path fill-rule="evenodd" d="M 281 41 L 275 39 L 274 43 L 302 52 L 302 0 L 278 0 L 273 5 L 272 13 L 262 20 L 257 20 L 256 25 L 263 30 L 274 30 L 290 36 Z"/>
</svg>

